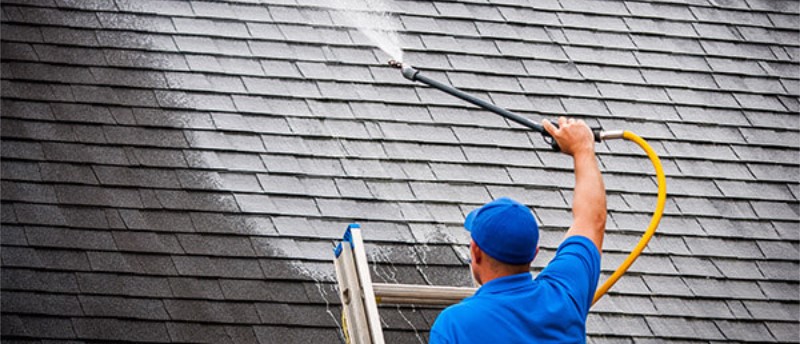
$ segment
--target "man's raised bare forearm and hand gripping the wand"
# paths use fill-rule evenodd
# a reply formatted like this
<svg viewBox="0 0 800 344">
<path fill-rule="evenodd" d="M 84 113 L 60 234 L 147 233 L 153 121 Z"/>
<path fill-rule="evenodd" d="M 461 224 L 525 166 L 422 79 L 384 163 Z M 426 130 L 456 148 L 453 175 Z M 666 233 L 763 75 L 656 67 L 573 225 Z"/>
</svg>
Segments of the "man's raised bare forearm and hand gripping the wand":
<svg viewBox="0 0 800 344">
<path fill-rule="evenodd" d="M 582 235 L 603 251 L 606 228 L 606 190 L 597 165 L 592 130 L 583 121 L 558 119 L 558 128 L 542 121 L 545 130 L 558 142 L 561 151 L 572 156 L 575 190 L 572 196 L 572 226 L 566 236 Z"/>
</svg>

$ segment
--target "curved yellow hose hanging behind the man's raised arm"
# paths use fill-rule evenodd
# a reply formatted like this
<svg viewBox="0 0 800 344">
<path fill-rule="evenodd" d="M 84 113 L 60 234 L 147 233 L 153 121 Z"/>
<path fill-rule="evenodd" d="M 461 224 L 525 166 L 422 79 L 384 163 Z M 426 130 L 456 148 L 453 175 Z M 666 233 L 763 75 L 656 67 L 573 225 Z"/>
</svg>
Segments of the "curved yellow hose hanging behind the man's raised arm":
<svg viewBox="0 0 800 344">
<path fill-rule="evenodd" d="M 658 199 L 656 200 L 656 210 L 653 212 L 653 218 L 650 220 L 650 226 L 647 227 L 647 230 L 642 234 L 642 238 L 639 240 L 639 243 L 636 244 L 636 247 L 631 251 L 628 255 L 628 258 L 625 259 L 622 264 L 617 268 L 617 271 L 611 275 L 611 277 L 606 280 L 603 285 L 597 288 L 597 292 L 594 294 L 594 301 L 592 304 L 594 305 L 597 303 L 597 300 L 600 300 L 603 295 L 608 292 L 608 289 L 617 282 L 617 280 L 628 271 L 628 268 L 631 267 L 636 258 L 639 258 L 639 255 L 644 251 L 644 248 L 647 246 L 647 243 L 650 242 L 650 238 L 653 237 L 653 234 L 656 232 L 656 228 L 658 228 L 658 223 L 661 222 L 661 215 L 664 214 L 664 205 L 667 203 L 667 178 L 664 176 L 664 167 L 661 166 L 661 160 L 658 158 L 658 154 L 647 144 L 647 141 L 639 137 L 630 131 L 624 131 L 622 133 L 622 138 L 626 140 L 630 140 L 636 142 L 639 147 L 644 149 L 647 156 L 650 158 L 650 161 L 653 163 L 653 167 L 656 170 L 656 179 L 658 181 Z"/>
</svg>

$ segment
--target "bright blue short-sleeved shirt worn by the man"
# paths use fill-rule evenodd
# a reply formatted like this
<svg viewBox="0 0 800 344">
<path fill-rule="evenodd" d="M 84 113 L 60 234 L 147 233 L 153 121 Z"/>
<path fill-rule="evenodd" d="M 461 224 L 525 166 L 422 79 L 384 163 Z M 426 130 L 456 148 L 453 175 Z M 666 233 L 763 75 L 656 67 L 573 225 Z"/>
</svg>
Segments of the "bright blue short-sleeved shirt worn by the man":
<svg viewBox="0 0 800 344">
<path fill-rule="evenodd" d="M 493 279 L 433 324 L 431 344 L 585 343 L 586 317 L 600 278 L 600 252 L 571 236 L 547 267 Z"/>
</svg>

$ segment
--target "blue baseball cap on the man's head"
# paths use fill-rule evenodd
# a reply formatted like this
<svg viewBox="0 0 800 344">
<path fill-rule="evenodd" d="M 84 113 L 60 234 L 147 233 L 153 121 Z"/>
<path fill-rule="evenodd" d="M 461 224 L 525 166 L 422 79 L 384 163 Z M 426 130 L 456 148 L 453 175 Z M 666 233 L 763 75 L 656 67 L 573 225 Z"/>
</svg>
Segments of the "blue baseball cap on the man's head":
<svg viewBox="0 0 800 344">
<path fill-rule="evenodd" d="M 536 256 L 536 218 L 528 207 L 511 198 L 501 197 L 471 211 L 464 228 L 483 252 L 503 263 L 526 264 Z"/>
</svg>

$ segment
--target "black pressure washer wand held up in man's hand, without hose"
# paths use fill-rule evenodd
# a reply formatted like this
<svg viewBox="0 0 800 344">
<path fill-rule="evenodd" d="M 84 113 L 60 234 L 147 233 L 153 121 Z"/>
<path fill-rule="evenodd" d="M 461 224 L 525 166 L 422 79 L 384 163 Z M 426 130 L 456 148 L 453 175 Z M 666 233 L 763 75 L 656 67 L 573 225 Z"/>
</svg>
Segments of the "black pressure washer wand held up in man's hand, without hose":
<svg viewBox="0 0 800 344">
<path fill-rule="evenodd" d="M 496 114 L 498 114 L 500 116 L 503 116 L 503 117 L 505 117 L 505 118 L 507 118 L 509 120 L 512 120 L 514 122 L 522 124 L 522 125 L 524 125 L 524 126 L 526 126 L 528 128 L 531 128 L 531 129 L 541 133 L 542 136 L 545 138 L 545 142 L 550 144 L 550 146 L 553 148 L 553 150 L 555 150 L 555 151 L 560 151 L 561 150 L 558 147 L 558 143 L 552 138 L 552 136 L 550 136 L 550 133 L 548 133 L 546 130 L 544 130 L 544 127 L 539 123 L 531 121 L 531 120 L 529 120 L 529 119 L 527 119 L 525 117 L 522 117 L 522 116 L 520 116 L 518 114 L 515 114 L 515 113 L 513 113 L 511 111 L 508 111 L 508 110 L 506 110 L 504 108 L 501 108 L 501 107 L 499 107 L 497 105 L 494 105 L 494 104 L 492 104 L 490 102 L 487 102 L 487 101 L 485 101 L 483 99 L 475 97 L 475 96 L 473 96 L 473 95 L 471 95 L 469 93 L 466 93 L 466 92 L 464 92 L 462 90 L 459 90 L 459 89 L 457 89 L 457 88 L 455 88 L 453 86 L 450 86 L 450 85 L 441 83 L 439 81 L 433 80 L 433 79 L 425 76 L 424 74 L 420 73 L 419 70 L 417 70 L 417 69 L 415 69 L 415 68 L 413 68 L 411 66 L 403 65 L 399 61 L 394 61 L 394 60 L 389 61 L 389 65 L 392 66 L 392 67 L 395 67 L 395 68 L 400 68 L 400 70 L 403 73 L 403 76 L 408 80 L 419 81 L 419 82 L 421 82 L 423 84 L 426 84 L 428 86 L 436 88 L 436 89 L 438 89 L 440 91 L 443 91 L 443 92 L 445 92 L 447 94 L 453 95 L 453 96 L 455 96 L 457 98 L 460 98 L 460 99 L 465 100 L 465 101 L 467 101 L 469 103 L 475 104 L 475 105 L 477 105 L 479 107 L 482 107 L 482 108 L 484 108 L 486 110 L 489 110 L 489 111 L 494 112 L 494 113 L 496 113 Z M 553 123 L 553 125 L 558 127 L 558 124 L 556 124 L 556 123 Z M 601 136 L 602 136 L 600 129 L 599 128 L 592 128 L 592 132 L 594 133 L 595 141 L 600 142 Z"/>
</svg>

